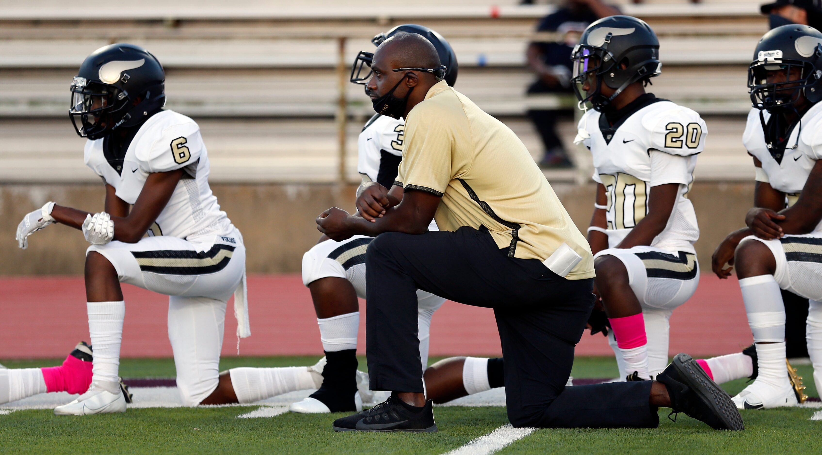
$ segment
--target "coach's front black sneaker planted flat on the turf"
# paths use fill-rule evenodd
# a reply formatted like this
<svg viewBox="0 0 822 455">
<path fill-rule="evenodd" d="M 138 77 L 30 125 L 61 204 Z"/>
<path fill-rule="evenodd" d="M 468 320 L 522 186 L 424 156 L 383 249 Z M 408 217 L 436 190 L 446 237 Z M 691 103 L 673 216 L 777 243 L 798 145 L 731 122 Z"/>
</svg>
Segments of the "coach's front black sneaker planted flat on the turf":
<svg viewBox="0 0 822 455">
<path fill-rule="evenodd" d="M 413 407 L 399 398 L 389 397 L 371 409 L 337 419 L 334 430 L 431 433 L 436 431 L 432 405 L 433 401 L 428 400 L 423 407 Z"/>
</svg>

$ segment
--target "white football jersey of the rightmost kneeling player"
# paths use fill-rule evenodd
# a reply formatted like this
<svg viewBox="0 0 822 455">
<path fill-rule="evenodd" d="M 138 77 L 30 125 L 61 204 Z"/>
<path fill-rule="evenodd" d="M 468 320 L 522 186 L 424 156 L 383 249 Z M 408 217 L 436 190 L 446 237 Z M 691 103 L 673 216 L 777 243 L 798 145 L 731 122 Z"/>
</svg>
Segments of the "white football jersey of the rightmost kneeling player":
<svg viewBox="0 0 822 455">
<path fill-rule="evenodd" d="M 768 122 L 770 113 L 763 111 L 762 115 L 764 121 Z M 757 177 L 757 180 L 769 183 L 774 190 L 785 193 L 787 206 L 797 201 L 810 175 L 810 170 L 814 167 L 816 160 L 822 156 L 820 128 L 822 128 L 822 103 L 816 103 L 802 116 L 801 122 L 792 129 L 786 148 L 778 152 L 782 154 L 782 161 L 777 162 L 765 143 L 760 110 L 751 108 L 748 113 L 742 143 L 748 153 L 762 163 L 765 177 Z M 795 149 L 792 148 L 794 145 L 797 146 Z M 816 227 L 816 231 L 820 230 L 822 230 L 822 223 Z"/>
</svg>

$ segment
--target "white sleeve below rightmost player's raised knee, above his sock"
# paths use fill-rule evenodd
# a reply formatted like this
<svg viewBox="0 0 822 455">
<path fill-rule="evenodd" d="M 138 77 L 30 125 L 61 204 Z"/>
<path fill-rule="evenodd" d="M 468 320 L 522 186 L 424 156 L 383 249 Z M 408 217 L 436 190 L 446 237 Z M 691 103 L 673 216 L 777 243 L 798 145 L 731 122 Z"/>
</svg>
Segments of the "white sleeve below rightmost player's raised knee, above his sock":
<svg viewBox="0 0 822 455">
<path fill-rule="evenodd" d="M 774 276 L 742 278 L 739 287 L 754 342 L 784 342 L 785 304 Z"/>
</svg>

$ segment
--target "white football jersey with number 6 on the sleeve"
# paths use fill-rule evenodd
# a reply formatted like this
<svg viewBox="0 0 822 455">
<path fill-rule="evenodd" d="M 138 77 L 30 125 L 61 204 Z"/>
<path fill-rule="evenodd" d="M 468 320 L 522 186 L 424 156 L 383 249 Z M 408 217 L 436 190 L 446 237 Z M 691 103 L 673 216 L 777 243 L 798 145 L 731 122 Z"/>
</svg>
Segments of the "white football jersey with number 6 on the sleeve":
<svg viewBox="0 0 822 455">
<path fill-rule="evenodd" d="M 179 237 L 207 249 L 217 236 L 233 231 L 231 221 L 211 193 L 208 153 L 200 126 L 191 118 L 166 110 L 146 120 L 128 145 L 120 173 L 105 158 L 103 140 L 85 143 L 85 164 L 128 204 L 134 205 L 150 173 L 185 170 L 148 232 L 150 236 Z"/>
</svg>

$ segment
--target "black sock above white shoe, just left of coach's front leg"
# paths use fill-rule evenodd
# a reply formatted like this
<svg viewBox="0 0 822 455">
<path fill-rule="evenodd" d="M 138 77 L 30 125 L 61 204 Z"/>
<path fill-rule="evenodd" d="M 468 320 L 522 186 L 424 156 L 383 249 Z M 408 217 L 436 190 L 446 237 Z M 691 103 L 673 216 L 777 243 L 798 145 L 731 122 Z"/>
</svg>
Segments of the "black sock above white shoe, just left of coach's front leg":
<svg viewBox="0 0 822 455">
<path fill-rule="evenodd" d="M 311 398 L 323 402 L 331 412 L 356 411 L 357 350 L 326 352 L 326 367 L 322 370 L 322 386 Z"/>
</svg>

